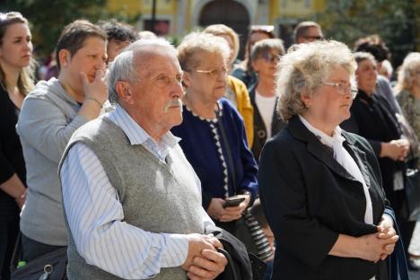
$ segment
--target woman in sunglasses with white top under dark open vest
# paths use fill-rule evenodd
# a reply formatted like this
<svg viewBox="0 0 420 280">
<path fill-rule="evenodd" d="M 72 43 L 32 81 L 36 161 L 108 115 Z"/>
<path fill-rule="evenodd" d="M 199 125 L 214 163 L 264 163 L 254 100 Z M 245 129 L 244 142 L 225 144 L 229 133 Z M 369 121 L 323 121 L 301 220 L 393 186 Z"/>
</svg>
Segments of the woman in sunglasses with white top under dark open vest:
<svg viewBox="0 0 420 280">
<path fill-rule="evenodd" d="M 249 98 L 254 108 L 254 143 L 251 151 L 259 161 L 259 154 L 267 139 L 284 127 L 276 112 L 276 71 L 280 57 L 284 55 L 281 39 L 263 39 L 252 47 L 250 60 L 258 74 L 258 83 L 249 88 Z"/>
</svg>

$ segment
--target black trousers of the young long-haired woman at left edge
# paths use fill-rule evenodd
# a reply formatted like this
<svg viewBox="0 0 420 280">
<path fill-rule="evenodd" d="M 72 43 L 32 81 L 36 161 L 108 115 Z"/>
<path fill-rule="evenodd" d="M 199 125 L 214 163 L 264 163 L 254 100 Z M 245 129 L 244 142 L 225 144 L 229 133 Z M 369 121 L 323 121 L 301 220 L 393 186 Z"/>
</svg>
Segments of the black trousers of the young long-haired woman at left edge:
<svg viewBox="0 0 420 280">
<path fill-rule="evenodd" d="M 10 262 L 19 233 L 19 215 L 0 222 L 0 279 L 10 279 Z"/>
</svg>

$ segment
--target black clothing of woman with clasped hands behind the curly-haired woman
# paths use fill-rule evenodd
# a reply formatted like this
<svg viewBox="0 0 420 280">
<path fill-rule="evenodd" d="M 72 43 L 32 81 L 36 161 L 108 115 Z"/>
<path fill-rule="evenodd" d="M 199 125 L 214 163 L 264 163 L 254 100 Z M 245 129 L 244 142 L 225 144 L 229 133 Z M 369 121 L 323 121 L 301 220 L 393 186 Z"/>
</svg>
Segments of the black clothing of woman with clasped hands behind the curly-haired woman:
<svg viewBox="0 0 420 280">
<path fill-rule="evenodd" d="M 403 162 L 395 162 L 387 157 L 380 158 L 381 142 L 389 142 L 401 138 L 401 129 L 397 118 L 390 108 L 388 101 L 381 95 L 373 94 L 369 97 L 359 90 L 350 109 L 351 118 L 343 122 L 340 127 L 366 138 L 372 145 L 381 167 L 383 188 L 391 203 L 398 213 L 398 205 L 402 202 L 400 196 L 394 192 L 394 173 L 404 171 Z"/>
</svg>

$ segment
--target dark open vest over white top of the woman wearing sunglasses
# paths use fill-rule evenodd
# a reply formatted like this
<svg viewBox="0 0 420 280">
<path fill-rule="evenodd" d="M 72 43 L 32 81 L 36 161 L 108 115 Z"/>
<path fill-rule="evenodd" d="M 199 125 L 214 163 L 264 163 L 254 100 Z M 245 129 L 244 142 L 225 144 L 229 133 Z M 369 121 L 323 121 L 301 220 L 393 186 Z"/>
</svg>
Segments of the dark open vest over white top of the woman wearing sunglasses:
<svg viewBox="0 0 420 280">
<path fill-rule="evenodd" d="M 251 105 L 254 108 L 254 143 L 252 144 L 251 152 L 254 153 L 254 157 L 259 162 L 259 156 L 261 154 L 261 150 L 267 142 L 267 127 L 264 123 L 263 118 L 261 117 L 261 113 L 258 110 L 257 103 L 255 102 L 255 89 L 257 88 L 257 84 L 249 88 L 249 99 L 251 101 Z M 276 99 L 276 103 L 277 103 Z M 278 115 L 276 107 L 273 114 L 273 119 L 271 122 L 271 135 L 275 136 L 277 132 L 279 132 L 285 126 L 283 120 Z"/>
</svg>

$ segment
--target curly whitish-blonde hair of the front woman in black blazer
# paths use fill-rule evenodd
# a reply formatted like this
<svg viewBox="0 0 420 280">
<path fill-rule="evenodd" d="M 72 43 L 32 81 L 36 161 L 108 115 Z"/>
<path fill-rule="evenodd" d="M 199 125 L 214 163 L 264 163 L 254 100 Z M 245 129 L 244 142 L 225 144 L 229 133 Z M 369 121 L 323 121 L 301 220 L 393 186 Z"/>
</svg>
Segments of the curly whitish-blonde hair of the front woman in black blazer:
<svg viewBox="0 0 420 280">
<path fill-rule="evenodd" d="M 350 83 L 354 87 L 356 64 L 345 44 L 322 40 L 289 48 L 280 60 L 276 74 L 276 92 L 280 96 L 277 109 L 284 121 L 306 110 L 302 92 L 315 94 L 315 90 L 328 80 L 337 66 L 348 71 Z"/>
</svg>

